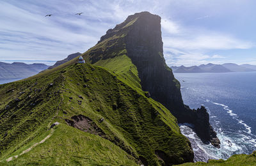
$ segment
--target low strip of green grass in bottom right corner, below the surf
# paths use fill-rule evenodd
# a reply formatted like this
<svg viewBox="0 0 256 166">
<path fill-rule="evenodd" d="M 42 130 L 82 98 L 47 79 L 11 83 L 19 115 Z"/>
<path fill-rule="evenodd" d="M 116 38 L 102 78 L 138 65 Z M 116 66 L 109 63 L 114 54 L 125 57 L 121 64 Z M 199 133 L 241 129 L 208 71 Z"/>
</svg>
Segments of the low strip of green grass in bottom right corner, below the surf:
<svg viewBox="0 0 256 166">
<path fill-rule="evenodd" d="M 233 155 L 228 160 L 209 160 L 205 162 L 184 163 L 182 166 L 205 165 L 205 166 L 255 166 L 256 165 L 256 151 L 251 155 Z M 181 166 L 180 165 L 180 166 Z"/>
</svg>

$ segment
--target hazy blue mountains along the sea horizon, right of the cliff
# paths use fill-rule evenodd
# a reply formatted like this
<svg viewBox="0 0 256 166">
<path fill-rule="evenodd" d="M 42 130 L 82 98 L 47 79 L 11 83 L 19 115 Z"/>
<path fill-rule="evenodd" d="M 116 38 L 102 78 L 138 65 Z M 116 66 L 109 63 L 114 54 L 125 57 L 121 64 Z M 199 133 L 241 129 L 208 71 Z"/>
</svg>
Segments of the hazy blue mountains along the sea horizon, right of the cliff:
<svg viewBox="0 0 256 166">
<path fill-rule="evenodd" d="M 201 64 L 200 66 L 172 66 L 175 73 L 223 73 L 223 72 L 254 72 L 256 71 L 256 65 L 251 64 Z"/>
</svg>

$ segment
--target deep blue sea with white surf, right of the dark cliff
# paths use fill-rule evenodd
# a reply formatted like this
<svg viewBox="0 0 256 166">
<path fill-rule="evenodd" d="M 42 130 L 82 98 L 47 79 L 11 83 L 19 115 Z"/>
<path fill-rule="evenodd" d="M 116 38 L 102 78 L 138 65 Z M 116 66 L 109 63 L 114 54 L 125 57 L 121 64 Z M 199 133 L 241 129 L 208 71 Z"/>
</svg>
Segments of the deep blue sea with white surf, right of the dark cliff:
<svg viewBox="0 0 256 166">
<path fill-rule="evenodd" d="M 204 105 L 221 141 L 220 149 L 205 145 L 189 124 L 179 124 L 191 141 L 195 162 L 256 151 L 256 72 L 174 73 L 184 103 L 191 109 Z"/>
</svg>

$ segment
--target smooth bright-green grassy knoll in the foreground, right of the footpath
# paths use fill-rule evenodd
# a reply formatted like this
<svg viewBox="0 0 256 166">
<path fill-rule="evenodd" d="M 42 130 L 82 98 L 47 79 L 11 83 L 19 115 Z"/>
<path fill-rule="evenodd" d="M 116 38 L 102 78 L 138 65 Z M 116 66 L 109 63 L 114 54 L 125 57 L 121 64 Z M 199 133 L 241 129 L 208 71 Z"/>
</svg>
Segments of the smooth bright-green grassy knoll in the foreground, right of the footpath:
<svg viewBox="0 0 256 166">
<path fill-rule="evenodd" d="M 0 163 L 1 164 L 1 163 Z M 138 165 L 125 151 L 98 135 L 82 132 L 67 124 L 28 153 L 3 165 Z"/>
</svg>

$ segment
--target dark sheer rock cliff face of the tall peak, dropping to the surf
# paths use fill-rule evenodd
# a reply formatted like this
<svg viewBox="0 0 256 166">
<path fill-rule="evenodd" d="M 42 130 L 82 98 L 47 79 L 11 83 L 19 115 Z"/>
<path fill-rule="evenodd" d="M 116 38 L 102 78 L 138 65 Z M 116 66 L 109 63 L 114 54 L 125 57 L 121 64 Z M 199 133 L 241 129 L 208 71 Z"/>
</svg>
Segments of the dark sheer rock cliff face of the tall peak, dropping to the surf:
<svg viewBox="0 0 256 166">
<path fill-rule="evenodd" d="M 132 22 L 132 24 L 131 24 Z M 143 91 L 148 91 L 157 102 L 162 103 L 179 123 L 192 123 L 195 132 L 206 143 L 211 142 L 215 147 L 220 147 L 220 140 L 209 123 L 209 114 L 204 107 L 191 110 L 184 105 L 180 93 L 180 83 L 173 76 L 172 70 L 166 65 L 163 57 L 163 41 L 161 38 L 161 17 L 152 15 L 147 11 L 135 13 L 127 17 L 125 22 L 118 24 L 114 29 L 109 29 L 106 35 L 100 38 L 100 43 L 107 38 L 125 37 L 113 40 L 107 50 L 94 50 L 92 63 L 104 57 L 111 50 L 124 47 L 127 56 L 138 69 Z"/>
</svg>

